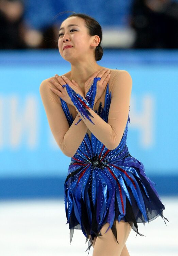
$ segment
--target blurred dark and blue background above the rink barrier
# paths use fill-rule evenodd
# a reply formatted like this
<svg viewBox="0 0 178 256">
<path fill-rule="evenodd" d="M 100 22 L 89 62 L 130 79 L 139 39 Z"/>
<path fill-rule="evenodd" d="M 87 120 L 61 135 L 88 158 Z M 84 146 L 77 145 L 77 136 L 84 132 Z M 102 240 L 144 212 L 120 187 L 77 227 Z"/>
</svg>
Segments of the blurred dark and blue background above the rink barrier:
<svg viewBox="0 0 178 256">
<path fill-rule="evenodd" d="M 178 0 L 0 0 L 0 49 L 58 48 L 72 12 L 100 23 L 104 47 L 178 47 Z"/>
</svg>

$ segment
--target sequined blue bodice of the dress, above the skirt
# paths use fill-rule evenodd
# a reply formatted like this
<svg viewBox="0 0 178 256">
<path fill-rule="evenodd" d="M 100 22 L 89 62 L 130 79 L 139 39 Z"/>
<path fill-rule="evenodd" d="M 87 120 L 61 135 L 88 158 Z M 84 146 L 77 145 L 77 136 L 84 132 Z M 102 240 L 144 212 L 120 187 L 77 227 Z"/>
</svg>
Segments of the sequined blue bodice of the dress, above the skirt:
<svg viewBox="0 0 178 256">
<path fill-rule="evenodd" d="M 88 91 L 88 95 L 91 95 L 90 90 Z M 92 102 L 93 98 L 87 97 L 88 95 L 86 94 L 86 99 L 90 103 Z M 94 96 L 92 95 L 92 97 Z M 69 112 L 66 102 L 63 101 L 61 98 L 60 100 L 61 100 L 63 111 L 66 115 L 68 124 L 69 126 L 71 126 L 71 124 L 74 122 L 74 119 Z M 107 123 L 108 123 L 110 104 L 111 104 L 111 92 L 109 93 L 109 85 L 107 85 L 106 95 L 104 99 L 104 107 L 102 108 L 102 102 L 100 102 L 98 110 L 94 110 L 95 113 L 97 113 Z M 129 115 L 128 115 L 127 124 L 124 130 L 122 139 L 119 145 L 114 150 L 108 150 L 108 148 L 104 146 L 104 144 L 102 144 L 94 136 L 93 133 L 91 133 L 91 138 L 89 137 L 89 134 L 86 133 L 75 155 L 71 157 L 70 166 L 74 167 L 73 164 L 74 164 L 74 161 L 76 161 L 75 159 L 81 159 L 81 164 L 82 162 L 83 163 L 91 162 L 91 164 L 95 168 L 96 167 L 103 168 L 104 166 L 107 165 L 108 161 L 118 162 L 119 160 L 122 160 L 125 156 L 129 154 L 128 147 L 126 145 L 128 122 L 130 122 Z M 72 171 L 70 169 L 70 166 L 69 166 L 68 173 Z"/>
</svg>

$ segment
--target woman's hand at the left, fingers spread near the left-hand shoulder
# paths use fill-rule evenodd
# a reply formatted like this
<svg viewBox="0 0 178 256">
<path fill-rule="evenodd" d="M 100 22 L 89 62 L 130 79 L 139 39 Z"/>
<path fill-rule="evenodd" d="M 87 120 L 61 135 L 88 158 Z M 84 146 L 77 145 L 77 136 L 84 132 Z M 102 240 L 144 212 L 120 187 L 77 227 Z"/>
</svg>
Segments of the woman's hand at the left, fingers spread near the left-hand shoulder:
<svg viewBox="0 0 178 256">
<path fill-rule="evenodd" d="M 80 94 L 83 98 L 84 98 L 84 93 L 82 91 L 82 89 L 80 88 L 80 86 L 74 81 L 72 80 L 72 82 L 66 77 L 66 76 L 59 76 L 59 75 L 55 75 L 56 79 L 58 82 L 55 82 L 54 80 L 50 82 L 56 87 L 56 89 L 54 88 L 50 88 L 56 95 L 58 95 L 62 100 L 64 100 L 65 102 L 69 103 L 70 105 L 74 106 L 73 102 L 71 101 L 67 90 L 64 87 L 62 87 L 62 85 L 68 84 L 70 86 L 70 88 L 72 88 L 77 94 Z"/>
</svg>

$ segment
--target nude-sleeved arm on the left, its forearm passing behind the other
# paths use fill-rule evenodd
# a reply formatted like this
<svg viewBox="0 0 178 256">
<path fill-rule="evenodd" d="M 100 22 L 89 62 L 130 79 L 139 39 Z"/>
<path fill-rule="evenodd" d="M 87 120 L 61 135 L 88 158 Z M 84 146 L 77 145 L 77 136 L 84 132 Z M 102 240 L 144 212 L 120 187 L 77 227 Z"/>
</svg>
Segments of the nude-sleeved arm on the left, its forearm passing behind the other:
<svg viewBox="0 0 178 256">
<path fill-rule="evenodd" d="M 87 126 L 84 122 L 75 125 L 80 119 L 80 116 L 77 115 L 74 122 L 69 127 L 59 96 L 54 94 L 50 90 L 50 87 L 55 88 L 47 79 L 44 80 L 39 87 L 48 123 L 61 151 L 66 156 L 72 157 L 75 155 L 85 137 Z"/>
</svg>

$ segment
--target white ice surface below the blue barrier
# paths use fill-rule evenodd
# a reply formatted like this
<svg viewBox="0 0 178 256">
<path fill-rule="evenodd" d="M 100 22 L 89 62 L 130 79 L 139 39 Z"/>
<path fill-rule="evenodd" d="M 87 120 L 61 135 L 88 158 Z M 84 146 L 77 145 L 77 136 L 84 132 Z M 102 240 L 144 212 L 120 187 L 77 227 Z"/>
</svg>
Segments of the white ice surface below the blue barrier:
<svg viewBox="0 0 178 256">
<path fill-rule="evenodd" d="M 159 216 L 131 229 L 126 245 L 130 256 L 178 255 L 178 197 L 161 197 L 166 225 Z M 81 230 L 74 230 L 70 244 L 64 200 L 0 201 L 0 255 L 85 256 L 88 242 Z M 135 237 L 136 236 L 136 237 Z M 89 256 L 93 254 L 93 247 Z M 109 255 L 108 255 L 109 256 Z"/>
</svg>

